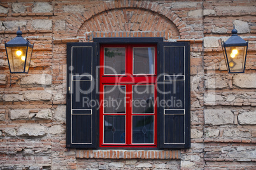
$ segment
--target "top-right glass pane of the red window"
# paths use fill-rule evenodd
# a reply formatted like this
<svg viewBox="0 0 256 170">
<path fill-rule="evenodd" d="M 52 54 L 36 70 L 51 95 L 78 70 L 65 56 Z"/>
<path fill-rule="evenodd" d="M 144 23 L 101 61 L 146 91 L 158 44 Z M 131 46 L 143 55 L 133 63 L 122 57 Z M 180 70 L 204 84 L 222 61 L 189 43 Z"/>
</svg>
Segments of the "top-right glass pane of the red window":
<svg viewBox="0 0 256 170">
<path fill-rule="evenodd" d="M 154 74 L 155 48 L 133 48 L 133 74 Z"/>
</svg>

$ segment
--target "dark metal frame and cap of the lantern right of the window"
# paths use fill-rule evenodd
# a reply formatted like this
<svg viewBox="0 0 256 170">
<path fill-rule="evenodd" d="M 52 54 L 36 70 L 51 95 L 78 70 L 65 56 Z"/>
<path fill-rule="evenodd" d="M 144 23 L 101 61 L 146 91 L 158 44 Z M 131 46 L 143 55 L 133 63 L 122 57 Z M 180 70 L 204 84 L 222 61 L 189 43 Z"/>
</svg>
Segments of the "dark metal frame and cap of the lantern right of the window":
<svg viewBox="0 0 256 170">
<path fill-rule="evenodd" d="M 248 50 L 248 41 L 245 41 L 241 37 L 238 36 L 238 30 L 234 29 L 232 30 L 232 36 L 227 39 L 227 41 L 222 42 L 222 50 L 224 53 L 225 58 L 225 64 L 227 66 L 227 72 L 229 74 L 236 74 L 236 73 L 244 73 L 245 72 L 245 63 L 246 63 L 246 56 L 247 56 L 247 50 Z M 237 63 L 234 62 L 231 58 L 229 59 L 229 56 L 227 55 L 227 48 L 236 49 L 236 47 L 244 47 L 243 51 L 243 63 L 241 64 L 241 71 L 233 71 L 232 68 L 234 68 Z M 246 48 L 246 50 L 245 50 Z M 232 62 L 232 65 L 230 63 Z"/>
</svg>

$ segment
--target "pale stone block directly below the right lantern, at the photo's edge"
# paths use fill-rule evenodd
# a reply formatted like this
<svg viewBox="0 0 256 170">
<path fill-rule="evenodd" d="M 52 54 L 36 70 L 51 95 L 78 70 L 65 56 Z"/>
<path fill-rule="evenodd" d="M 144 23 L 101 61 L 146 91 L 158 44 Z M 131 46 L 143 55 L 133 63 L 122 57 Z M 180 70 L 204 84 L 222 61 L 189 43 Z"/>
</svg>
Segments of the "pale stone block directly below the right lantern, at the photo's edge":
<svg viewBox="0 0 256 170">
<path fill-rule="evenodd" d="M 236 74 L 233 84 L 239 88 L 256 88 L 256 74 Z"/>
</svg>

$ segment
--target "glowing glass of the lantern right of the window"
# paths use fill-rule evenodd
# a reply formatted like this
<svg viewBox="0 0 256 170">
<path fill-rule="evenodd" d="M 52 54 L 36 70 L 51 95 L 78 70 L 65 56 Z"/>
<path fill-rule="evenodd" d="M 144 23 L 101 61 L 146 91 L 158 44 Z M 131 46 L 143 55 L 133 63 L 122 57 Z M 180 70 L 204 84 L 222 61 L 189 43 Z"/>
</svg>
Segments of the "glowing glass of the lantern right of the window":
<svg viewBox="0 0 256 170">
<path fill-rule="evenodd" d="M 226 65 L 230 72 L 243 72 L 245 69 L 246 46 L 225 46 L 225 49 L 227 53 Z"/>
</svg>

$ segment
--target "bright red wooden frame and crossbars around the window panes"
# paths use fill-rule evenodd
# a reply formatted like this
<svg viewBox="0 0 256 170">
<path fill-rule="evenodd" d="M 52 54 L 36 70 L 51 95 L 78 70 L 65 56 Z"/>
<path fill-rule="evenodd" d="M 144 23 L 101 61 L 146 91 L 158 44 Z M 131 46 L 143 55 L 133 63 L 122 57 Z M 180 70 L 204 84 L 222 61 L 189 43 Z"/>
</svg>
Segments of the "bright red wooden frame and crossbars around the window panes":
<svg viewBox="0 0 256 170">
<path fill-rule="evenodd" d="M 155 48 L 154 74 L 133 74 L 133 48 L 153 47 Z M 104 75 L 104 48 L 125 48 L 125 75 Z M 105 85 L 126 86 L 126 113 L 125 113 L 125 143 L 103 143 L 104 140 L 104 108 L 99 108 L 99 147 L 157 147 L 157 44 L 103 44 L 100 47 L 100 69 L 99 69 L 99 102 L 104 100 Z M 131 80 L 134 81 L 131 81 Z M 154 138 L 153 144 L 135 143 L 132 144 L 132 85 L 154 85 Z M 127 101 L 129 100 L 129 102 Z M 114 114 L 111 114 L 114 115 Z M 120 115 L 120 114 L 117 114 Z M 146 114 L 145 114 L 146 115 Z M 150 114 L 152 115 L 152 114 Z"/>
</svg>

